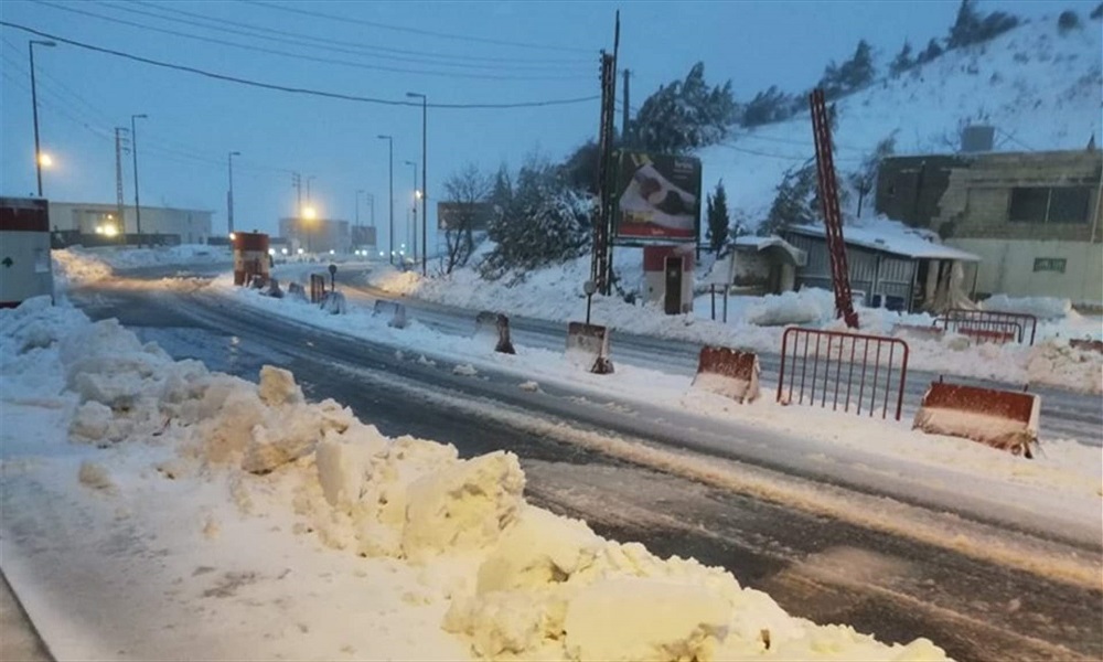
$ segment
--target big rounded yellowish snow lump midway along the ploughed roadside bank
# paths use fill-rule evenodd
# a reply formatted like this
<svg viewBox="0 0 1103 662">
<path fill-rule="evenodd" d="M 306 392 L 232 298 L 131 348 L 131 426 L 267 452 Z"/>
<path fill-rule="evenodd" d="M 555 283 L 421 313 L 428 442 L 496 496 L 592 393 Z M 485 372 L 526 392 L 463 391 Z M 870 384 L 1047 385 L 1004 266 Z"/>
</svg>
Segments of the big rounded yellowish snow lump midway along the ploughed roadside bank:
<svg viewBox="0 0 1103 662">
<path fill-rule="evenodd" d="M 403 549 L 410 558 L 497 542 L 522 505 L 517 456 L 496 451 L 418 479 L 407 490 Z"/>
</svg>

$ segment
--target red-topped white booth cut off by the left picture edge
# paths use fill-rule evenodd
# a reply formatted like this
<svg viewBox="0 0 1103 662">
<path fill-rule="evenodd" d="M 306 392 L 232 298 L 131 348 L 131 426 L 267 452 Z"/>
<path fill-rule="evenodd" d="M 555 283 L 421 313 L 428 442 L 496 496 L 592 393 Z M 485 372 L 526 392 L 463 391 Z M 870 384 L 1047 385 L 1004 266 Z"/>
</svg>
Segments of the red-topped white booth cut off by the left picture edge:
<svg viewBox="0 0 1103 662">
<path fill-rule="evenodd" d="M 47 203 L 0 197 L 0 308 L 44 295 L 54 295 Z"/>
</svg>

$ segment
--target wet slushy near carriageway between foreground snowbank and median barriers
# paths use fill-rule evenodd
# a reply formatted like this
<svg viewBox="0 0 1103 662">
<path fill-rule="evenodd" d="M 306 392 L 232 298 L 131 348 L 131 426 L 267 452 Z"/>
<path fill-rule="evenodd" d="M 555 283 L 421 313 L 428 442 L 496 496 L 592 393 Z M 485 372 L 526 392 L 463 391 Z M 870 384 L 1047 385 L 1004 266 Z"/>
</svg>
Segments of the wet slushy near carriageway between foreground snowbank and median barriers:
<svg viewBox="0 0 1103 662">
<path fill-rule="evenodd" d="M 101 287 L 74 299 L 89 316 L 118 317 L 174 356 L 199 357 L 213 370 L 255 378 L 264 363 L 290 367 L 311 397 L 338 397 L 385 434 L 452 442 L 465 456 L 513 450 L 522 457 L 534 500 L 582 516 L 600 533 L 640 540 L 657 553 L 722 565 L 745 583 L 769 590 L 791 612 L 850 622 L 890 641 L 928 636 L 963 660 L 1103 654 L 1097 584 L 1088 588 L 1041 572 L 1008 568 L 975 553 L 924 543 L 872 520 L 843 521 L 824 511 L 757 498 L 738 484 L 703 480 L 678 466 L 656 471 L 642 457 L 587 446 L 602 431 L 679 451 L 692 446 L 649 419 L 646 412 L 586 404 L 577 395 L 553 389 L 526 393 L 510 376 L 459 377 L 448 370 L 451 366 L 421 364 L 396 355 L 392 348 L 271 319 L 203 292 Z M 440 323 L 458 328 L 461 321 L 443 313 Z M 517 340 L 537 344 L 538 338 L 544 342 L 555 338 L 558 349 L 559 331 L 553 337 L 555 325 L 542 330 L 540 324 L 533 330 L 521 324 Z M 521 335 L 528 333 L 532 338 Z M 643 343 L 635 351 L 640 356 L 655 355 Z M 667 350 L 664 356 L 672 366 L 692 370 L 695 351 Z M 631 360 L 627 352 L 622 356 Z M 735 458 L 714 453 L 708 461 L 727 466 Z M 761 462 L 741 470 L 752 468 L 793 470 Z M 821 484 L 817 476 L 791 478 L 815 485 L 825 501 L 854 492 L 848 494 L 852 505 L 888 510 L 890 516 L 893 508 L 924 505 L 914 499 L 889 502 L 849 490 L 845 483 Z M 932 520 L 960 523 L 963 535 L 983 536 L 996 530 L 1005 542 L 1014 538 L 1053 558 L 1085 552 L 1088 557 L 1099 556 L 1094 545 L 1083 541 L 1046 541 L 1040 538 L 1054 536 L 1007 531 L 998 522 L 963 521 L 967 517 L 962 514 L 943 515 L 928 513 Z"/>
</svg>

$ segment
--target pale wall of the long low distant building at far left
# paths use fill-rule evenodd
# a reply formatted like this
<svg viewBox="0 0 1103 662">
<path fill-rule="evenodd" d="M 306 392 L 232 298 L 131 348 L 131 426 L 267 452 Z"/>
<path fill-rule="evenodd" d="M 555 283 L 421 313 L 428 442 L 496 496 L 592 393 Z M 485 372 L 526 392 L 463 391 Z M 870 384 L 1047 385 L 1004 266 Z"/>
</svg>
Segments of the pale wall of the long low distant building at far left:
<svg viewBox="0 0 1103 662">
<path fill-rule="evenodd" d="M 115 225 L 118 210 L 114 204 L 50 203 L 50 226 L 55 231 L 77 231 L 96 234 L 97 226 Z M 138 233 L 138 216 L 133 206 L 124 207 L 126 234 Z M 211 236 L 213 212 L 173 207 L 141 207 L 142 234 L 176 235 L 182 244 L 205 244 Z"/>
</svg>

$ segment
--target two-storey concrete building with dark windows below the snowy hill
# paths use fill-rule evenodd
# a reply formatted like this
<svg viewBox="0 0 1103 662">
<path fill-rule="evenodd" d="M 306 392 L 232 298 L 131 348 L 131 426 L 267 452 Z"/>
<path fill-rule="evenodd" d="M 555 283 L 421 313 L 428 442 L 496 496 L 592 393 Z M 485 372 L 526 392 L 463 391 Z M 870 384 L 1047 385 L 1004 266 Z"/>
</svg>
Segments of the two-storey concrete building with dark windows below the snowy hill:
<svg viewBox="0 0 1103 662">
<path fill-rule="evenodd" d="M 1103 306 L 1097 150 L 892 157 L 877 211 L 981 256 L 977 293 Z"/>
</svg>

